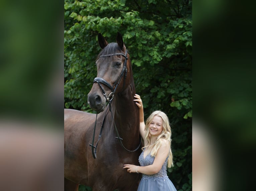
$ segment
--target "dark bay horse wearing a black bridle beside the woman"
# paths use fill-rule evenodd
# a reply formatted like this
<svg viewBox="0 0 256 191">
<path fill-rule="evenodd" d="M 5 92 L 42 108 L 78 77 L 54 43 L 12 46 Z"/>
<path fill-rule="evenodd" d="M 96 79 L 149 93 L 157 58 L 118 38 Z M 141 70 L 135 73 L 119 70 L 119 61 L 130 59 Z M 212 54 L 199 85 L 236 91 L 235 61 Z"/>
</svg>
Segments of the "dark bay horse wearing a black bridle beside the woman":
<svg viewBox="0 0 256 191">
<path fill-rule="evenodd" d="M 102 51 L 96 61 L 97 78 L 88 94 L 97 114 L 64 110 L 65 190 L 78 190 L 83 184 L 93 191 L 135 191 L 141 175 L 123 169 L 124 164 L 139 165 L 141 153 L 130 56 L 120 33 L 116 43 L 109 44 L 99 34 L 98 43 Z"/>
</svg>

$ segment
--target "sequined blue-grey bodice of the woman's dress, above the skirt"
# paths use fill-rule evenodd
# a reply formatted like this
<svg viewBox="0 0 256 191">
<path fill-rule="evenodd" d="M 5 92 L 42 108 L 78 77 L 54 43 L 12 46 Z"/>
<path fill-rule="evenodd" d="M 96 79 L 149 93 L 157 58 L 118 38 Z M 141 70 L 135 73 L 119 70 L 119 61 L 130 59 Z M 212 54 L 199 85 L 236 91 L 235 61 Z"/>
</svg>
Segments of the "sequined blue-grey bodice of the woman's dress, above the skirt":
<svg viewBox="0 0 256 191">
<path fill-rule="evenodd" d="M 140 156 L 139 156 L 139 163 L 140 166 L 148 166 L 153 164 L 155 157 L 150 155 L 151 153 L 149 153 L 145 159 L 144 159 L 144 151 L 141 152 Z M 152 175 L 146 175 L 146 174 L 142 174 L 142 179 L 157 179 L 157 178 L 168 178 L 167 176 L 167 172 L 166 172 L 166 167 L 167 167 L 167 161 L 168 161 L 168 156 L 165 159 L 163 166 L 161 168 L 161 170 L 156 173 L 156 174 L 152 174 Z"/>
</svg>

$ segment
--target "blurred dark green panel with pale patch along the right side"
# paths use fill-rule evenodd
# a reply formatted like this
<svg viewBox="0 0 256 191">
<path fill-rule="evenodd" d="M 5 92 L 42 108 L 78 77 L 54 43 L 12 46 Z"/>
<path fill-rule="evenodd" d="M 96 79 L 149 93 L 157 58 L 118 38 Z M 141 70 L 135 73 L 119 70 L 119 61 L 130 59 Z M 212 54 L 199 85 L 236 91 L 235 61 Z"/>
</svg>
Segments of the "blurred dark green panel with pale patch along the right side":
<svg viewBox="0 0 256 191">
<path fill-rule="evenodd" d="M 254 189 L 254 5 L 236 0 L 193 1 L 196 190 Z M 210 182 L 201 183 L 206 178 Z"/>
</svg>

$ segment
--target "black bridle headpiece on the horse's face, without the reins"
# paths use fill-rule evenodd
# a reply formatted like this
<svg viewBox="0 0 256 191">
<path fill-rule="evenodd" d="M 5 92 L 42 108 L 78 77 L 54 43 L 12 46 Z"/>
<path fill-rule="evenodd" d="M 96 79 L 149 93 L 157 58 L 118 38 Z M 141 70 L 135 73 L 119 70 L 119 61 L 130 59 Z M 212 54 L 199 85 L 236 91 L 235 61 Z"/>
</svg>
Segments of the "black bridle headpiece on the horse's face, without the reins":
<svg viewBox="0 0 256 191">
<path fill-rule="evenodd" d="M 123 54 L 123 53 L 115 53 L 115 54 L 108 54 L 108 55 L 102 55 L 102 56 L 100 56 L 100 57 L 110 57 L 110 56 L 118 56 L 118 55 L 123 56 L 123 57 L 125 58 L 125 61 L 124 61 L 124 65 L 123 65 L 122 72 L 121 72 L 119 78 L 118 78 L 118 79 L 116 80 L 116 82 L 113 84 L 113 86 L 111 86 L 111 85 L 110 85 L 106 80 L 104 80 L 103 78 L 95 78 L 95 79 L 93 80 L 93 83 L 97 82 L 97 83 L 99 84 L 99 86 L 100 86 L 100 88 L 101 88 L 101 90 L 102 90 L 102 92 L 103 92 L 103 95 L 104 95 L 104 97 L 106 98 L 107 101 L 110 101 L 110 100 L 113 99 L 114 94 L 115 94 L 115 92 L 116 92 L 116 89 L 117 89 L 117 87 L 118 87 L 118 85 L 119 85 L 119 83 L 120 83 L 120 81 L 121 81 L 121 79 L 122 79 L 122 77 L 123 77 L 123 75 L 124 75 L 124 72 L 125 72 L 125 75 L 124 75 L 124 84 L 125 84 L 125 79 L 126 79 L 126 75 L 127 75 L 126 63 L 127 63 L 128 57 L 127 57 L 127 51 L 125 51 L 125 54 Z M 104 84 L 105 86 L 107 86 L 107 87 L 112 91 L 108 96 L 106 95 L 106 93 L 105 93 L 103 87 L 101 86 L 101 84 Z M 114 87 L 115 87 L 115 89 L 114 89 Z M 124 85 L 123 85 L 123 88 L 124 88 Z"/>
</svg>

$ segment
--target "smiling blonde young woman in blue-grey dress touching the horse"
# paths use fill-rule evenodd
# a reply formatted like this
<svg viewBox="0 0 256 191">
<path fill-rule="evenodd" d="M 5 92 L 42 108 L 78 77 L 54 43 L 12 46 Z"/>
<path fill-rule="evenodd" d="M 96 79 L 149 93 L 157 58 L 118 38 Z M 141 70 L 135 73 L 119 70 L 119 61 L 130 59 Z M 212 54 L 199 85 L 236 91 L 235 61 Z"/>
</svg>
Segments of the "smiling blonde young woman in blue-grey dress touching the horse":
<svg viewBox="0 0 256 191">
<path fill-rule="evenodd" d="M 138 191 L 176 191 L 167 176 L 166 167 L 173 166 L 171 153 L 171 128 L 167 115 L 154 111 L 144 123 L 142 100 L 135 94 L 140 114 L 140 135 L 144 147 L 139 156 L 140 166 L 125 164 L 127 172 L 142 173 Z"/>
</svg>

